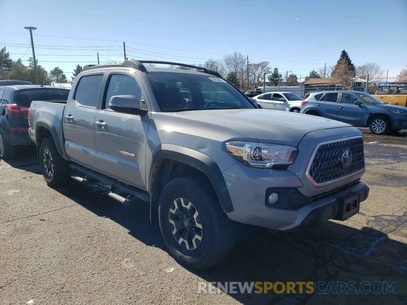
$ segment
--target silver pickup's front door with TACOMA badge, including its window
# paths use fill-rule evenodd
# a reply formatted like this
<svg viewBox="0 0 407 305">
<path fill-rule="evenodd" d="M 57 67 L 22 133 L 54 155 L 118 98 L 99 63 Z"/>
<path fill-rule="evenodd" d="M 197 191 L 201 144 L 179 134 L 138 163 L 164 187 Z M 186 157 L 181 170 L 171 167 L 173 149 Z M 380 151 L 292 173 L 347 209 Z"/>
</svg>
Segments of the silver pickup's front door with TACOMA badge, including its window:
<svg viewBox="0 0 407 305">
<path fill-rule="evenodd" d="M 109 108 L 112 96 L 129 94 L 142 101 L 147 109 L 140 82 L 136 76 L 112 73 L 108 79 L 106 96 L 102 109 L 96 112 L 96 167 L 108 176 L 126 181 L 136 187 L 145 188 L 143 180 L 146 155 L 149 115 L 120 113 Z M 143 106 L 144 105 L 144 106 Z"/>
</svg>

